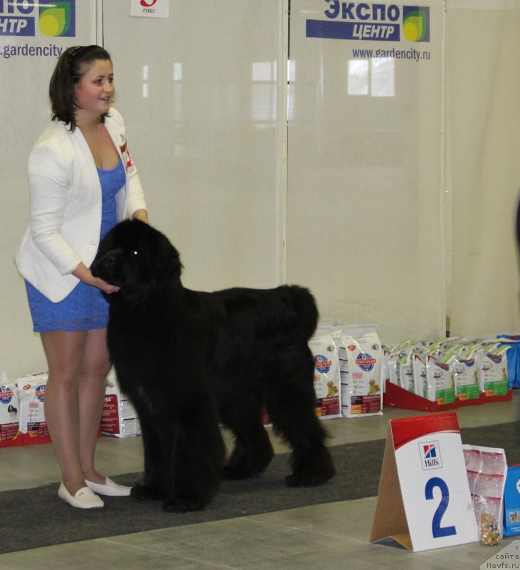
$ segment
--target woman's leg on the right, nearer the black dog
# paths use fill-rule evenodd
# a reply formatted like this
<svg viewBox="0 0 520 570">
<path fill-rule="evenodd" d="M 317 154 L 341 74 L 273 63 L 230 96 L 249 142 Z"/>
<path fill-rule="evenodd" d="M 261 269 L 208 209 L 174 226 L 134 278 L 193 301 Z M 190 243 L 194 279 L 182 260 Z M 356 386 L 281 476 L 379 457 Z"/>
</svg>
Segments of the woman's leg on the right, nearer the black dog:
<svg viewBox="0 0 520 570">
<path fill-rule="evenodd" d="M 99 432 L 107 375 L 110 372 L 107 329 L 88 331 L 85 358 L 80 372 L 80 462 L 83 476 L 105 484 L 105 477 L 95 469 L 95 446 Z"/>
</svg>

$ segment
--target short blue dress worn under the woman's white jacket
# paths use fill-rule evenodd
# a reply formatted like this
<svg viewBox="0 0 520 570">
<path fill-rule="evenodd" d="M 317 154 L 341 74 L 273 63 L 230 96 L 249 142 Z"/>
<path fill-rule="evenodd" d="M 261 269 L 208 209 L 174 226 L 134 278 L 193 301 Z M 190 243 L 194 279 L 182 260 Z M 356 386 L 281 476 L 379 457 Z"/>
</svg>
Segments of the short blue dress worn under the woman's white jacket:
<svg viewBox="0 0 520 570">
<path fill-rule="evenodd" d="M 124 186 L 121 162 L 112 170 L 97 169 L 102 191 L 100 239 L 117 222 L 115 195 Z M 46 331 L 87 331 L 104 328 L 108 322 L 108 304 L 100 289 L 80 281 L 68 296 L 53 303 L 26 281 L 29 309 L 35 333 Z"/>
</svg>

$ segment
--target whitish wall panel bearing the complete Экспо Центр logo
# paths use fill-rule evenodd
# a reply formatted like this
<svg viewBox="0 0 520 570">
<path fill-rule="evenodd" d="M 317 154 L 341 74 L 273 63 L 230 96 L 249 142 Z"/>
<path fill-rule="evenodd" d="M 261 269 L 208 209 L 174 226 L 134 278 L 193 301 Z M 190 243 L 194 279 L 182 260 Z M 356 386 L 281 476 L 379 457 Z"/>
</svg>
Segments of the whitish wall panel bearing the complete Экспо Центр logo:
<svg viewBox="0 0 520 570">
<path fill-rule="evenodd" d="M 307 36 L 308 21 L 351 24 L 343 4 L 291 4 L 287 279 L 312 287 L 325 318 L 380 323 L 387 342 L 437 335 L 442 3 L 422 3 L 430 6 L 424 43 L 402 30 L 401 41 Z M 403 24 L 402 8 L 377 6 L 368 21 L 392 24 L 396 13 L 385 10 L 397 9 Z"/>
</svg>

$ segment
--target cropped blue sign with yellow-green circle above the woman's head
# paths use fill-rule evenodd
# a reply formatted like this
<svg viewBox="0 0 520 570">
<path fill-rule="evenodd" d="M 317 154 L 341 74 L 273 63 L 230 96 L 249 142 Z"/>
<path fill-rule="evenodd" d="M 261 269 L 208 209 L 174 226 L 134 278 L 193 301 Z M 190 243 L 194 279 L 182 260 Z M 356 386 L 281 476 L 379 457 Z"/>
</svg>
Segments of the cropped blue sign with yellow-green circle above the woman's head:
<svg viewBox="0 0 520 570">
<path fill-rule="evenodd" d="M 36 28 L 36 24 L 38 28 Z M 75 37 L 76 0 L 0 0 L 0 36 Z"/>
</svg>

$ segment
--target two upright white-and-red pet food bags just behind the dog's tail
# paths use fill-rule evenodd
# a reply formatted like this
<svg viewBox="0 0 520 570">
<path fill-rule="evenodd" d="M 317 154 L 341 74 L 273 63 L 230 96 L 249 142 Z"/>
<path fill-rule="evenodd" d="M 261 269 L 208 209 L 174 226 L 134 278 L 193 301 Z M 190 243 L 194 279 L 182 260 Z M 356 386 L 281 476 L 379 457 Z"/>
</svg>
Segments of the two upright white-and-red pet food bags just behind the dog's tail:
<svg viewBox="0 0 520 570">
<path fill-rule="evenodd" d="M 383 413 L 383 351 L 377 325 L 321 322 L 309 346 L 322 418 L 366 418 Z"/>
</svg>

